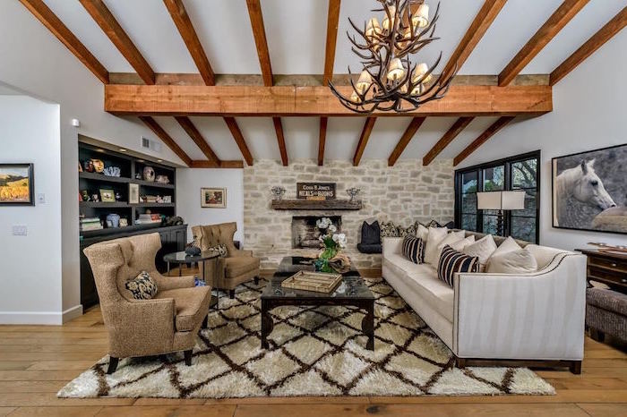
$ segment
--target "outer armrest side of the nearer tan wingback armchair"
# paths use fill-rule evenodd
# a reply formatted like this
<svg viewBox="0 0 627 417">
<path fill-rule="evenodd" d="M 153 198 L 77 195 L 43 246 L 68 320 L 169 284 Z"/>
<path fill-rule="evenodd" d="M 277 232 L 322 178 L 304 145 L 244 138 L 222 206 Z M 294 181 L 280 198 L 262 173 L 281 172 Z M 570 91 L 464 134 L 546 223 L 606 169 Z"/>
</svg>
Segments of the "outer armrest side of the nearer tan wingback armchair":
<svg viewBox="0 0 627 417">
<path fill-rule="evenodd" d="M 116 357 L 165 353 L 172 349 L 176 304 L 172 298 L 118 303 L 108 311 L 109 353 Z"/>
</svg>

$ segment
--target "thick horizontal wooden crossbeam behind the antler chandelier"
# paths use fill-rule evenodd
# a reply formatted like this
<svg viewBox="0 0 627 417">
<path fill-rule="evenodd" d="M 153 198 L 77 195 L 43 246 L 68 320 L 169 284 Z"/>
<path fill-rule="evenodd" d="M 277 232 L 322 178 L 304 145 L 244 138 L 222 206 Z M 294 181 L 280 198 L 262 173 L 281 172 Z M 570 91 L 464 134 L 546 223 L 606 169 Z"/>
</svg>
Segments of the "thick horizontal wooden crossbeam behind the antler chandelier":
<svg viewBox="0 0 627 417">
<path fill-rule="evenodd" d="M 350 94 L 351 87 L 338 87 Z M 105 110 L 115 115 L 351 116 L 328 87 L 106 85 Z M 553 110 L 551 87 L 454 85 L 441 100 L 408 113 L 372 116 L 543 115 Z"/>
</svg>

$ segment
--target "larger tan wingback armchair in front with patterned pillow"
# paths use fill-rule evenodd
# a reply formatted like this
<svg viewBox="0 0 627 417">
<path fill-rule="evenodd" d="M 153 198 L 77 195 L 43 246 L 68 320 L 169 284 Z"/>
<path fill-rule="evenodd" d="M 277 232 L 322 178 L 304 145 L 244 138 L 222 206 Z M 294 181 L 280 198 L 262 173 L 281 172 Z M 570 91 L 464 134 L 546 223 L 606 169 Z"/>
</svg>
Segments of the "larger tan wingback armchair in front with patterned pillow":
<svg viewBox="0 0 627 417">
<path fill-rule="evenodd" d="M 159 234 L 139 234 L 95 243 L 84 249 L 90 260 L 100 310 L 108 332 L 109 366 L 119 358 L 184 351 L 192 364 L 198 330 L 207 324 L 210 286 L 195 287 L 193 277 L 164 277 L 155 267 Z M 125 283 L 142 270 L 157 283 L 151 300 L 135 300 Z"/>
</svg>

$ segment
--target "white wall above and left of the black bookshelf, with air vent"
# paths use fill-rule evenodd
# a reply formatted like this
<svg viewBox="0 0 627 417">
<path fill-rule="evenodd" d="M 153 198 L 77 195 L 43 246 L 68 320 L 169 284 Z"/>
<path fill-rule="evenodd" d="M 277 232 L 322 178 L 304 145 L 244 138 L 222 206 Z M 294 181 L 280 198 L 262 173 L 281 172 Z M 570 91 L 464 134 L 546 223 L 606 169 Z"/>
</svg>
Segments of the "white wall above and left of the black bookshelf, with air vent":
<svg viewBox="0 0 627 417">
<path fill-rule="evenodd" d="M 81 288 L 76 203 L 78 133 L 178 164 L 181 160 L 166 146 L 160 153 L 141 149 L 140 136 L 158 140 L 156 136 L 137 118 L 105 113 L 102 83 L 20 2 L 0 1 L 0 57 L 0 82 L 60 105 L 63 215 L 62 233 L 57 237 L 62 248 L 63 305 L 59 311 L 71 311 L 80 306 Z M 70 125 L 74 117 L 81 121 L 78 129 Z"/>
</svg>

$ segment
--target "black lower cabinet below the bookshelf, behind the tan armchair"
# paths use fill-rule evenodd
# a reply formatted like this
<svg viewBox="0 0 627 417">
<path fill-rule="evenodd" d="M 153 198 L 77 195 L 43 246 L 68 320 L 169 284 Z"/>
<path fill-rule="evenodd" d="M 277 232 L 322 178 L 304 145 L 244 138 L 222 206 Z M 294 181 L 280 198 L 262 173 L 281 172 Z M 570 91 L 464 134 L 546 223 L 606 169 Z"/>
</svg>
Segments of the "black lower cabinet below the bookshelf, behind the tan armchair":
<svg viewBox="0 0 627 417">
<path fill-rule="evenodd" d="M 107 234 L 106 236 L 94 236 L 81 241 L 81 303 L 83 310 L 98 304 L 99 301 L 93 273 L 91 272 L 90 261 L 87 260 L 87 257 L 82 250 L 93 243 L 109 241 L 120 237 L 133 236 L 135 234 L 150 233 L 159 233 L 159 236 L 161 237 L 161 249 L 157 253 L 155 264 L 157 265 L 159 272 L 163 273 L 167 269 L 167 264 L 163 261 L 163 255 L 170 252 L 185 250 L 185 243 L 187 243 L 187 225 L 152 227 L 118 234 Z"/>
</svg>

